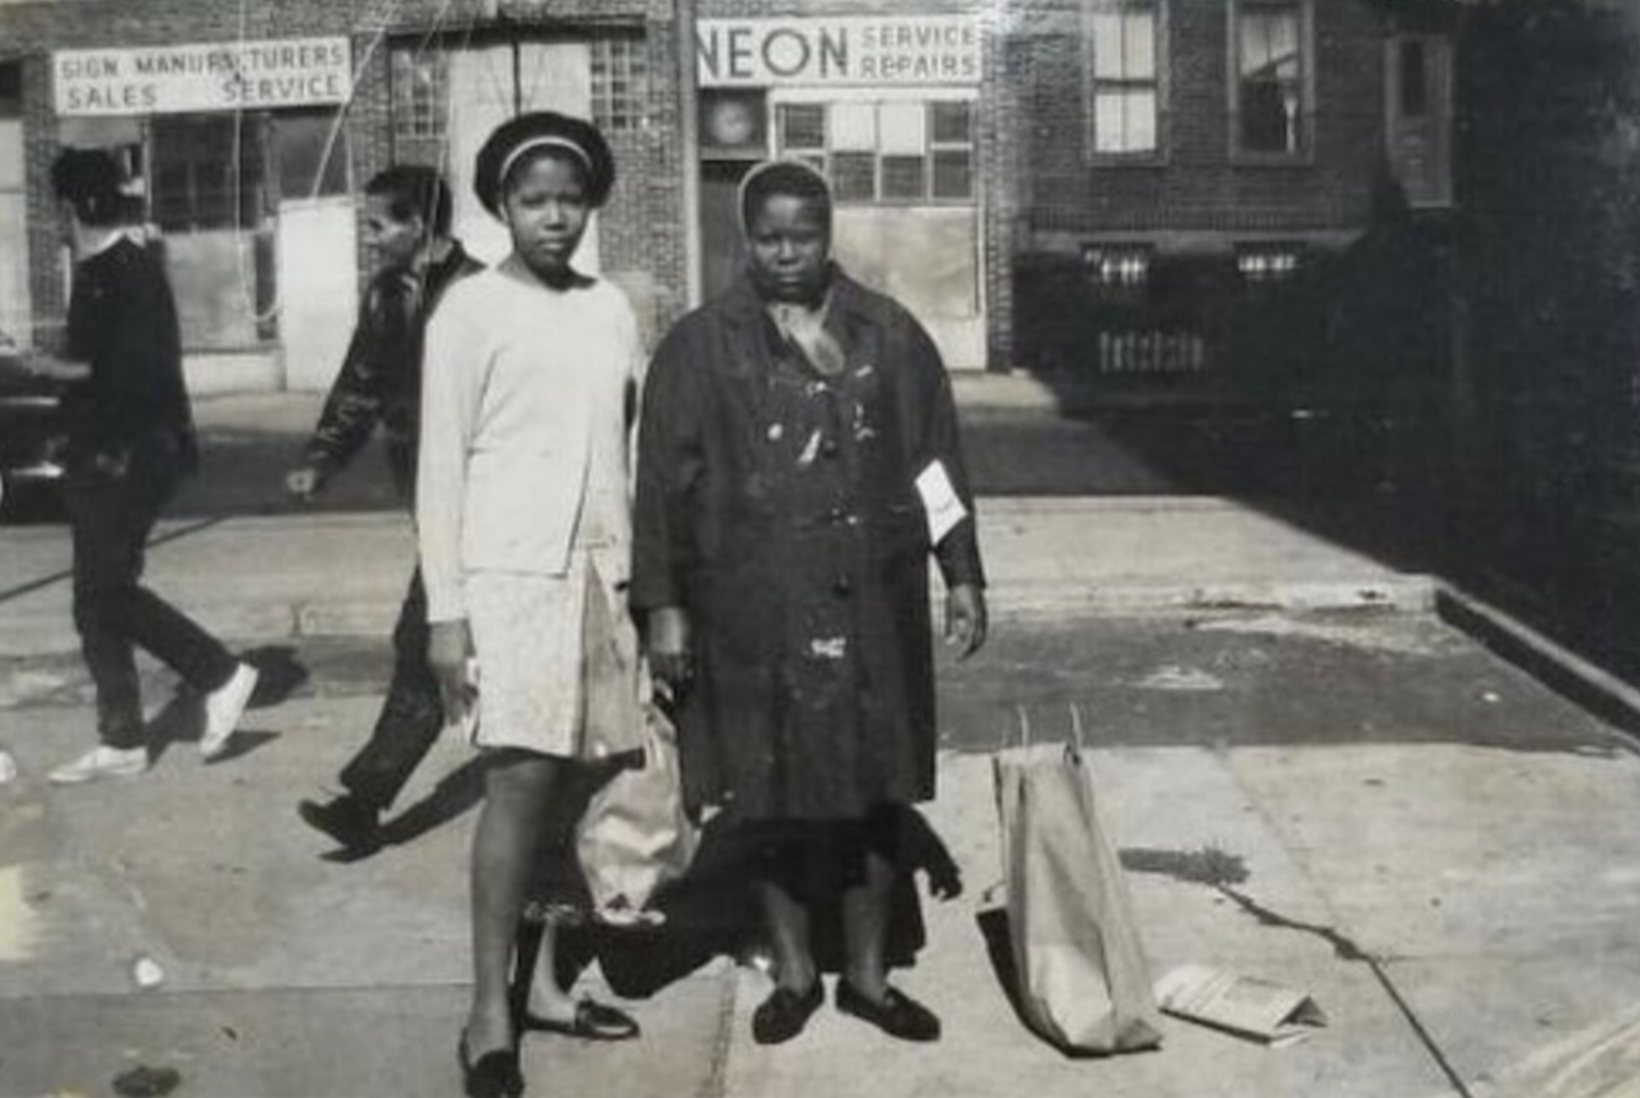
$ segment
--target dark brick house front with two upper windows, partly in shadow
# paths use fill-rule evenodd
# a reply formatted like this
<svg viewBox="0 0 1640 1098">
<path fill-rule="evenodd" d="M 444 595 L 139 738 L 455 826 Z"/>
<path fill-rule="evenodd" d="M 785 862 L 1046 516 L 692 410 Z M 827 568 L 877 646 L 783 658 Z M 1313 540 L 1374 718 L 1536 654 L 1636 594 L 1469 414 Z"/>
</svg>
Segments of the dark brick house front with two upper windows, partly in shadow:
<svg viewBox="0 0 1640 1098">
<path fill-rule="evenodd" d="M 1000 355 L 1120 384 L 1223 369 L 1215 325 L 1327 266 L 1386 192 L 1450 205 L 1445 7 L 1010 0 Z"/>
</svg>

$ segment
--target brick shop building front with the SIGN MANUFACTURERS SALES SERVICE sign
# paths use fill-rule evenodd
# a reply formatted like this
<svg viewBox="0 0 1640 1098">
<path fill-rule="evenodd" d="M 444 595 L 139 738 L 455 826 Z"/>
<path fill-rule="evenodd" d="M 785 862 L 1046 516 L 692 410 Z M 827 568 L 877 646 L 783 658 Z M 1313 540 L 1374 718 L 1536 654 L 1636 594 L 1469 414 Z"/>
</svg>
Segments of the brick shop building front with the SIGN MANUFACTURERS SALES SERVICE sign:
<svg viewBox="0 0 1640 1098">
<path fill-rule="evenodd" d="M 338 39 L 346 56 L 331 75 L 343 95 L 328 102 L 320 69 L 325 43 Z M 294 43 L 297 67 L 266 71 L 292 87 L 312 82 L 313 102 L 298 92 L 233 108 L 218 90 L 198 108 L 167 107 L 164 89 L 144 87 L 131 67 L 151 48 L 171 53 L 146 56 L 149 72 L 279 43 Z M 164 240 L 190 384 L 323 387 L 371 266 L 358 233 L 364 181 L 394 161 L 441 164 L 458 189 L 458 233 L 494 251 L 499 226 L 464 185 L 476 143 L 515 110 L 556 107 L 592 115 L 610 136 L 620 179 L 587 259 L 658 328 L 686 304 L 687 282 L 677 44 L 671 0 L 3 5 L 0 162 L 26 167 L 0 169 L 0 253 L 10 256 L 0 327 L 25 346 L 59 338 L 67 254 L 49 164 L 62 144 L 113 148 Z M 244 54 L 239 64 L 254 80 Z"/>
</svg>

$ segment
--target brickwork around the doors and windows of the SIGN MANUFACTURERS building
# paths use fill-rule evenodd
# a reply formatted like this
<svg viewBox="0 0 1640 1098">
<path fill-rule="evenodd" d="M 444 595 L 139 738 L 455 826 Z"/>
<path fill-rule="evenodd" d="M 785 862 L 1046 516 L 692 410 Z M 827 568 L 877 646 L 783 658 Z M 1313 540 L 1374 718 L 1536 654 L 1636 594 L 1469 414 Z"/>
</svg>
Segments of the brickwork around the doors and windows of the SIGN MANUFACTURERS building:
<svg viewBox="0 0 1640 1098">
<path fill-rule="evenodd" d="M 579 36 L 636 33 L 648 43 L 649 118 L 613 135 L 620 181 L 600 220 L 605 272 L 631 294 L 653 332 L 682 310 L 682 164 L 677 149 L 677 48 L 671 0 L 500 0 L 490 33 Z M 346 135 L 356 184 L 392 162 L 387 39 L 454 31 L 485 20 L 484 0 L 143 0 L 143 3 L 0 5 L 0 61 L 23 61 L 25 144 L 30 185 L 30 281 L 36 330 L 51 345 L 66 312 L 62 251 L 51 202 L 49 166 L 59 148 L 51 105 L 49 54 L 57 49 L 149 46 L 349 34 L 354 97 Z M 371 256 L 359 245 L 361 279 Z"/>
</svg>

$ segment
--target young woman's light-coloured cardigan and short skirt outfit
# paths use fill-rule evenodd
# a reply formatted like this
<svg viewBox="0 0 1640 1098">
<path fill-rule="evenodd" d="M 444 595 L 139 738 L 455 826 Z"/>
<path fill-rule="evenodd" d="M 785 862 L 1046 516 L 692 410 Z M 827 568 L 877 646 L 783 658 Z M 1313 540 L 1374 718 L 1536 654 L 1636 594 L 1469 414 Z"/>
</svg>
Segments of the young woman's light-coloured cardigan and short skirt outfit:
<svg viewBox="0 0 1640 1098">
<path fill-rule="evenodd" d="M 589 727 L 631 712 L 628 468 L 643 366 L 617 287 L 551 289 L 517 256 L 453 286 L 433 313 L 417 533 L 428 620 L 472 630 L 479 747 L 581 757 Z"/>
</svg>

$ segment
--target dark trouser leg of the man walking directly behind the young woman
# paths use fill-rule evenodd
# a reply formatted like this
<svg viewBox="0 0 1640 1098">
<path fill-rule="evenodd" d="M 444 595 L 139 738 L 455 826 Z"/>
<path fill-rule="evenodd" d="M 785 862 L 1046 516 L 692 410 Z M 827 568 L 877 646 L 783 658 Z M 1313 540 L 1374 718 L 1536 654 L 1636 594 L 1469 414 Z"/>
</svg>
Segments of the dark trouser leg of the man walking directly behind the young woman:
<svg viewBox="0 0 1640 1098">
<path fill-rule="evenodd" d="M 382 811 L 394 803 L 444 727 L 426 643 L 426 591 L 417 568 L 394 627 L 394 678 L 387 684 L 387 701 L 371 739 L 341 771 L 343 788 L 366 807 Z"/>
</svg>

